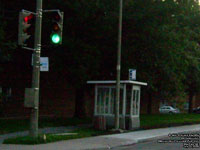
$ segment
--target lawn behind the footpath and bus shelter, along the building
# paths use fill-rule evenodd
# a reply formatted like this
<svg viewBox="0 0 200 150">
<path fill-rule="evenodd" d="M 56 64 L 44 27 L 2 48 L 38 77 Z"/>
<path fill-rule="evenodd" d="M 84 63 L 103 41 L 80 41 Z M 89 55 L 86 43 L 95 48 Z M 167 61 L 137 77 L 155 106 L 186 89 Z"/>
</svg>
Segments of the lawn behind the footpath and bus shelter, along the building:
<svg viewBox="0 0 200 150">
<path fill-rule="evenodd" d="M 40 119 L 39 128 L 59 127 L 59 126 L 74 126 L 79 124 L 91 124 L 91 118 L 55 118 L 55 119 Z M 177 126 L 185 124 L 200 123 L 200 114 L 155 114 L 141 115 L 141 129 Z M 27 120 L 11 120 L 0 119 L 0 134 L 12 133 L 17 131 L 29 130 L 30 121 Z"/>
</svg>

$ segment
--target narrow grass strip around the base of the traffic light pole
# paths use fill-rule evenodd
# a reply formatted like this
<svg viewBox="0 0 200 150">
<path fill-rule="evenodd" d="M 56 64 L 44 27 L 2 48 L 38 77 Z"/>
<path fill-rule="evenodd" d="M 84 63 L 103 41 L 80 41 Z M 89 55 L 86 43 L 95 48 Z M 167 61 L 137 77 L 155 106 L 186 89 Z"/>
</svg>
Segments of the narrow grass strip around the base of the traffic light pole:
<svg viewBox="0 0 200 150">
<path fill-rule="evenodd" d="M 47 134 L 44 139 L 44 135 L 39 135 L 37 138 L 32 138 L 30 136 L 10 138 L 4 140 L 4 144 L 26 144 L 26 145 L 34 145 L 34 144 L 45 144 L 62 140 L 69 139 L 77 139 L 77 138 L 85 138 L 96 135 L 106 134 L 106 131 L 94 130 L 94 129 L 79 129 L 73 131 L 73 133 L 78 133 L 77 135 L 55 135 L 55 134 Z"/>
</svg>

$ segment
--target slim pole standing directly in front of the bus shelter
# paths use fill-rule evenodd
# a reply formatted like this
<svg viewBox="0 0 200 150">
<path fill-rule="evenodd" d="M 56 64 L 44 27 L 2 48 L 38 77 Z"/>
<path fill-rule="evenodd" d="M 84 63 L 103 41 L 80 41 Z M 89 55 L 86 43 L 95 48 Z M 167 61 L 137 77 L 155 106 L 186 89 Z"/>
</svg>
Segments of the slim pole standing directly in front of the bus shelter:
<svg viewBox="0 0 200 150">
<path fill-rule="evenodd" d="M 119 1 L 119 32 L 117 51 L 117 82 L 116 82 L 116 105 L 115 105 L 115 129 L 119 129 L 119 99 L 120 99 L 120 68 L 121 68 L 121 41 L 122 41 L 122 5 Z"/>
</svg>

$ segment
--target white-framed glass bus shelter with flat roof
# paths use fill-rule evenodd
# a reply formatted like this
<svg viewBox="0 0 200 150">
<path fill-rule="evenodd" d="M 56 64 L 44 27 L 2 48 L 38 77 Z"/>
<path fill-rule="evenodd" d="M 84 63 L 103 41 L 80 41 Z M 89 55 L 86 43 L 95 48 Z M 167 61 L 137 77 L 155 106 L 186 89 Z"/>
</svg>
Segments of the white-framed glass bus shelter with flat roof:
<svg viewBox="0 0 200 150">
<path fill-rule="evenodd" d="M 87 81 L 95 85 L 94 124 L 100 129 L 113 128 L 115 122 L 116 81 Z M 141 86 L 147 83 L 121 80 L 119 120 L 120 128 L 140 127 Z"/>
</svg>

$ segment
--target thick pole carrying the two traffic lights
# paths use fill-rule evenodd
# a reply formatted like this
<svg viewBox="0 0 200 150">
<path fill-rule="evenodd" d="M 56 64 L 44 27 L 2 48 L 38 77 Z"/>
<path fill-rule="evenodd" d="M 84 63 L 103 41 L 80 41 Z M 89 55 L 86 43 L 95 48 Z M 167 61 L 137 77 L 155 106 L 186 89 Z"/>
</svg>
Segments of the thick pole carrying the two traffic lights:
<svg viewBox="0 0 200 150">
<path fill-rule="evenodd" d="M 34 103 L 31 110 L 30 136 L 38 136 L 38 117 L 39 117 L 39 89 L 40 89 L 40 52 L 41 52 L 41 27 L 42 27 L 42 0 L 37 0 L 36 6 L 36 25 L 35 41 L 33 54 L 33 78 L 32 88 L 34 88 Z"/>
</svg>

